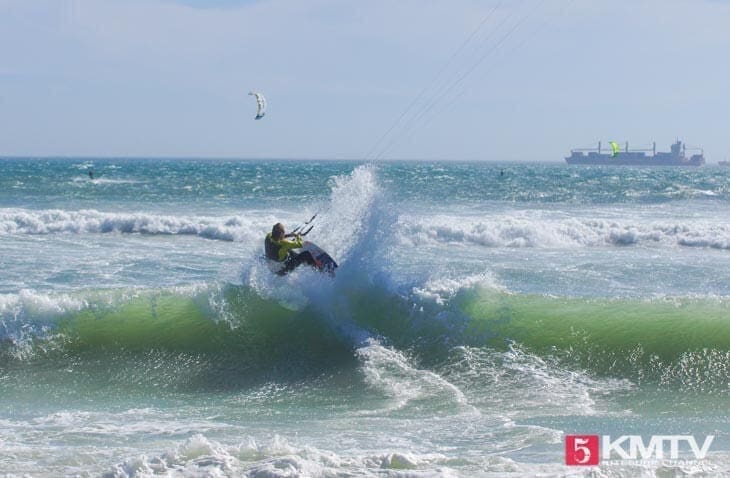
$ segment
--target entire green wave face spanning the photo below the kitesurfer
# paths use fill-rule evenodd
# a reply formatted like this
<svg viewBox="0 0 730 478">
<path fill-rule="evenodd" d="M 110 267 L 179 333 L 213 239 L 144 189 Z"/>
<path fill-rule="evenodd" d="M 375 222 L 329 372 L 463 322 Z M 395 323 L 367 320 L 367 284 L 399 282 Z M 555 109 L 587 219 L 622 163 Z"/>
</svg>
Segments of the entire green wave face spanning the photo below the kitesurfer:
<svg viewBox="0 0 730 478">
<path fill-rule="evenodd" d="M 29 358 L 15 353 L 6 367 L 86 363 L 99 374 L 126 370 L 122 379 L 132 382 L 157 374 L 173 388 L 240 386 L 356 367 L 355 349 L 375 337 L 426 367 L 447 361 L 453 347 L 518 344 L 597 375 L 711 389 L 730 383 L 724 299 L 589 300 L 472 288 L 440 305 L 370 286 L 292 311 L 229 285 L 87 302 L 34 339 Z"/>
</svg>

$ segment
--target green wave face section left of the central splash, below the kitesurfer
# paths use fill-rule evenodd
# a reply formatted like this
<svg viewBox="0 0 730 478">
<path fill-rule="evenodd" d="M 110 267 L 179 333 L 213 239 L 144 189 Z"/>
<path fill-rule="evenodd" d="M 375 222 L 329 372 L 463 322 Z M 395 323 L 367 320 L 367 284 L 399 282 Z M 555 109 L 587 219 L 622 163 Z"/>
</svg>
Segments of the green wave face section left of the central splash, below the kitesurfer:
<svg viewBox="0 0 730 478">
<path fill-rule="evenodd" d="M 300 380 L 354 361 L 346 341 L 311 310 L 292 312 L 245 287 L 119 295 L 87 294 L 88 307 L 58 318 L 50 333 L 0 347 L 9 359 L 0 361 L 0 376 L 17 381 L 9 389 L 23 393 L 33 383 L 68 391 L 63 382 L 70 375 L 59 371 L 109 393 L 239 388 Z M 83 386 L 74 387 L 69 393 L 82 393 Z"/>
</svg>

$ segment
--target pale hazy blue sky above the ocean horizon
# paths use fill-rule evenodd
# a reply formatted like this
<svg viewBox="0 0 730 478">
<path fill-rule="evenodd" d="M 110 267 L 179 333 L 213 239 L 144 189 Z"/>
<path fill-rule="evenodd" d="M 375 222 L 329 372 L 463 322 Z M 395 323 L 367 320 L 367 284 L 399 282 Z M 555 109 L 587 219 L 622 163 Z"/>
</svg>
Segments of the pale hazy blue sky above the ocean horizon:
<svg viewBox="0 0 730 478">
<path fill-rule="evenodd" d="M 679 136 L 716 162 L 728 25 L 720 0 L 0 0 L 0 155 L 560 161 Z"/>
</svg>

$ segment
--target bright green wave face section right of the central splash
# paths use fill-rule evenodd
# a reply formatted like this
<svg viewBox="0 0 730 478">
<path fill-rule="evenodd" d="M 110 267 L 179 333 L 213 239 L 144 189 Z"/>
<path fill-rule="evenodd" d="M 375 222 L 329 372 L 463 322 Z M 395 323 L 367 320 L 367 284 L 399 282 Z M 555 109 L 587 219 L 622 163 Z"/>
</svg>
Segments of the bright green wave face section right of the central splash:
<svg viewBox="0 0 730 478">
<path fill-rule="evenodd" d="M 458 298 L 465 337 L 516 342 L 601 375 L 727 388 L 726 299 L 574 299 L 474 290 Z"/>
</svg>

